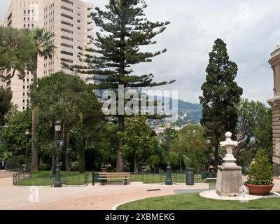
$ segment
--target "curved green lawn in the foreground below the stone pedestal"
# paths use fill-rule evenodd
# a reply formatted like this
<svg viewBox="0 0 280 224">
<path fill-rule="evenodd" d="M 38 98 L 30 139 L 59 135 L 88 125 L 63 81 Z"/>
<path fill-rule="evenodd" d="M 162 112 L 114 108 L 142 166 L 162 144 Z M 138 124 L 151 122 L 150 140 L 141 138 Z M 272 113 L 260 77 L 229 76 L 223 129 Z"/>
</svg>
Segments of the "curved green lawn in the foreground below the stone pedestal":
<svg viewBox="0 0 280 224">
<path fill-rule="evenodd" d="M 198 193 L 186 193 L 144 200 L 120 205 L 118 210 L 280 210 L 280 198 L 262 198 L 249 202 L 211 200 Z"/>
</svg>

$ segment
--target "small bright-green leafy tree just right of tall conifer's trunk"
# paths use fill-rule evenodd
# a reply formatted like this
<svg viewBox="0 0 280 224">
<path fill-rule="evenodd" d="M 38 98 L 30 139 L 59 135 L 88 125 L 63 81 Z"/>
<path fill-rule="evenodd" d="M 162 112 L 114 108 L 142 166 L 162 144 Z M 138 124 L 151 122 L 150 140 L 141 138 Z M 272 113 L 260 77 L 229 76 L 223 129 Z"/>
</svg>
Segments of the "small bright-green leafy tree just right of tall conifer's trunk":
<svg viewBox="0 0 280 224">
<path fill-rule="evenodd" d="M 125 130 L 118 132 L 123 141 L 123 156 L 130 169 L 138 172 L 139 168 L 145 166 L 148 158 L 155 153 L 157 140 L 155 132 L 146 125 L 145 116 L 127 118 Z"/>
</svg>

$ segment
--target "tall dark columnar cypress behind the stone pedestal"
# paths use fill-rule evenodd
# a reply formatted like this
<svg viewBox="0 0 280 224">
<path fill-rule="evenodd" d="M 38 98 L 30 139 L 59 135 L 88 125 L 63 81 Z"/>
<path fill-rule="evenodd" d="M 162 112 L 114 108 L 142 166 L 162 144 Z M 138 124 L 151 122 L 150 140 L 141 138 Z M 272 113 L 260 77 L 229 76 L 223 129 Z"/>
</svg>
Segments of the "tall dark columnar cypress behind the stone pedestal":
<svg viewBox="0 0 280 224">
<path fill-rule="evenodd" d="M 207 136 L 212 137 L 215 146 L 214 169 L 218 167 L 218 148 L 225 132 L 236 135 L 237 104 L 243 90 L 235 82 L 237 64 L 230 61 L 226 44 L 218 38 L 209 53 L 206 82 L 202 85 L 203 96 L 201 123 L 206 127 Z"/>
</svg>

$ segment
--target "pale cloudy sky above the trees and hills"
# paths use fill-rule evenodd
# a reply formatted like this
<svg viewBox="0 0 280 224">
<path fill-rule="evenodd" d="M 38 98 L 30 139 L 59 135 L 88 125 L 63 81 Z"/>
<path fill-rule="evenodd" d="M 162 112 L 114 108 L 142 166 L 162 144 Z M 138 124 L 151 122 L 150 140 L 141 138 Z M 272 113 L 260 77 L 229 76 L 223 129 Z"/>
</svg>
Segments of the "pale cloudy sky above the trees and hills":
<svg viewBox="0 0 280 224">
<path fill-rule="evenodd" d="M 107 0 L 90 0 L 104 7 Z M 10 0 L 1 0 L 0 17 Z M 136 74 L 153 73 L 155 80 L 176 83 L 162 90 L 178 90 L 179 99 L 198 103 L 209 52 L 216 38 L 228 45 L 230 59 L 239 66 L 237 83 L 244 98 L 266 103 L 273 96 L 270 53 L 280 43 L 279 0 L 146 0 L 148 20 L 169 21 L 158 43 L 145 50 L 162 50 L 152 63 L 138 65 Z"/>
</svg>

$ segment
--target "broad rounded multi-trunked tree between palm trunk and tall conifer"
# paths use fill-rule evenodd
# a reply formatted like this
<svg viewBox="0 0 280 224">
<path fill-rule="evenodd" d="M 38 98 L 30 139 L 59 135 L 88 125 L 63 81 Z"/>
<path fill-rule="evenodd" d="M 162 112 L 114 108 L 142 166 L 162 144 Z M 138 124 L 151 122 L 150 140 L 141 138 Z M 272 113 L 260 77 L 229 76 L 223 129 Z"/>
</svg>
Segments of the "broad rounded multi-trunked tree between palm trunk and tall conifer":
<svg viewBox="0 0 280 224">
<path fill-rule="evenodd" d="M 101 104 L 93 92 L 93 86 L 87 85 L 78 76 L 58 72 L 38 80 L 38 89 L 31 89 L 31 107 L 41 111 L 40 120 L 44 120 L 55 141 L 54 123 L 62 123 L 63 168 L 69 169 L 68 153 L 71 151 L 71 138 L 76 139 L 76 151 L 79 154 L 80 172 L 83 172 L 84 153 L 92 146 L 94 134 L 98 132 L 102 121 Z M 55 148 L 51 153 L 52 168 L 55 165 Z"/>
</svg>

